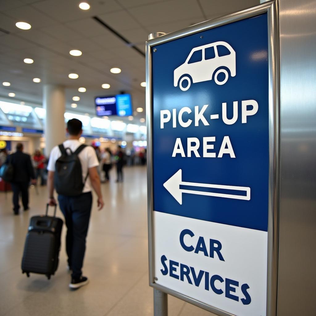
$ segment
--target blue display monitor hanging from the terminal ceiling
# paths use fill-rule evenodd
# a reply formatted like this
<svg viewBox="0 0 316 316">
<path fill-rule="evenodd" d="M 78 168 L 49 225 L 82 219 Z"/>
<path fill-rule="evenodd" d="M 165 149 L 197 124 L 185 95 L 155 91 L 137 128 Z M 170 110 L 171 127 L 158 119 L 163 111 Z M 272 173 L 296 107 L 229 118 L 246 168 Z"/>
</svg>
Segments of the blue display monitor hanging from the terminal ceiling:
<svg viewBox="0 0 316 316">
<path fill-rule="evenodd" d="M 97 116 L 129 116 L 132 115 L 131 94 L 117 94 L 95 98 Z"/>
</svg>

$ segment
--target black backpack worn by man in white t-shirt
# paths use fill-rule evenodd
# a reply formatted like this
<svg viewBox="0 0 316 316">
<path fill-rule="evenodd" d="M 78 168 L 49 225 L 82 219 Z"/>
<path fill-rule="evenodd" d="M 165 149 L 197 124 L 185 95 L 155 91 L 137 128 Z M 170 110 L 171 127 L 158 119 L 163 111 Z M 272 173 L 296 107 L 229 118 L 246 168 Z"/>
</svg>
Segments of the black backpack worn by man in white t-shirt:
<svg viewBox="0 0 316 316">
<path fill-rule="evenodd" d="M 89 173 L 87 173 L 83 182 L 82 167 L 78 155 L 86 145 L 80 145 L 75 152 L 72 152 L 70 148 L 65 149 L 63 144 L 60 144 L 58 147 L 61 151 L 61 156 L 57 159 L 55 165 L 55 189 L 58 194 L 66 196 L 80 195 Z M 67 150 L 70 151 L 70 155 L 67 154 Z"/>
</svg>

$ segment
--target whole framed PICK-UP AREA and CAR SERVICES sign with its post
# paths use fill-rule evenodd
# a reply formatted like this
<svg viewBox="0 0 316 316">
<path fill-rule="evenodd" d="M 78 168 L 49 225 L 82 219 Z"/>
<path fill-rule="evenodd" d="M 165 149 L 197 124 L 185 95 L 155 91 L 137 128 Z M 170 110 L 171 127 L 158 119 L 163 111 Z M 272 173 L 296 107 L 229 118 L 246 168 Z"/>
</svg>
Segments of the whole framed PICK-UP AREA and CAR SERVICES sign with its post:
<svg viewBox="0 0 316 316">
<path fill-rule="evenodd" d="M 277 23 L 270 1 L 147 42 L 155 316 L 165 293 L 222 316 L 276 315 Z"/>
</svg>

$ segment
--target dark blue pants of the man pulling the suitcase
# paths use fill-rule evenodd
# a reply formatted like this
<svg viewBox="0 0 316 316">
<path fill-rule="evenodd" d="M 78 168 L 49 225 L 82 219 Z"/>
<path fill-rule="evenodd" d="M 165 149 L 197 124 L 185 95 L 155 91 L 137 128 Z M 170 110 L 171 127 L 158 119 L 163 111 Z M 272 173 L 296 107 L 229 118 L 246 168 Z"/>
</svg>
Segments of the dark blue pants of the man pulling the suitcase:
<svg viewBox="0 0 316 316">
<path fill-rule="evenodd" d="M 82 275 L 81 269 L 86 251 L 92 194 L 87 192 L 76 197 L 59 195 L 58 202 L 67 226 L 66 252 L 68 264 L 72 269 L 71 276 L 77 279 Z"/>
</svg>

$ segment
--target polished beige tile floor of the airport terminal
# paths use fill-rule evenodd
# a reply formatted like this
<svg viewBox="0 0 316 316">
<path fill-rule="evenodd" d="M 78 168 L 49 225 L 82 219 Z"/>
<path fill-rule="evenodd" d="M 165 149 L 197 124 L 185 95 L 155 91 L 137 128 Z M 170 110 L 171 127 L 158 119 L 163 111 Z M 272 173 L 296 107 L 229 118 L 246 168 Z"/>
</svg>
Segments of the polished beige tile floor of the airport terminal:
<svg viewBox="0 0 316 316">
<path fill-rule="evenodd" d="M 13 216 L 12 194 L 0 192 L 0 316 L 153 315 L 146 186 L 145 167 L 125 168 L 124 183 L 102 184 L 105 208 L 98 212 L 94 204 L 83 268 L 90 283 L 77 291 L 68 289 L 64 228 L 55 276 L 21 274 L 29 218 L 44 212 L 46 187 L 30 190 L 31 209 L 19 216 Z M 57 215 L 62 217 L 59 210 Z M 213 315 L 170 295 L 168 309 L 169 316 Z"/>
</svg>

